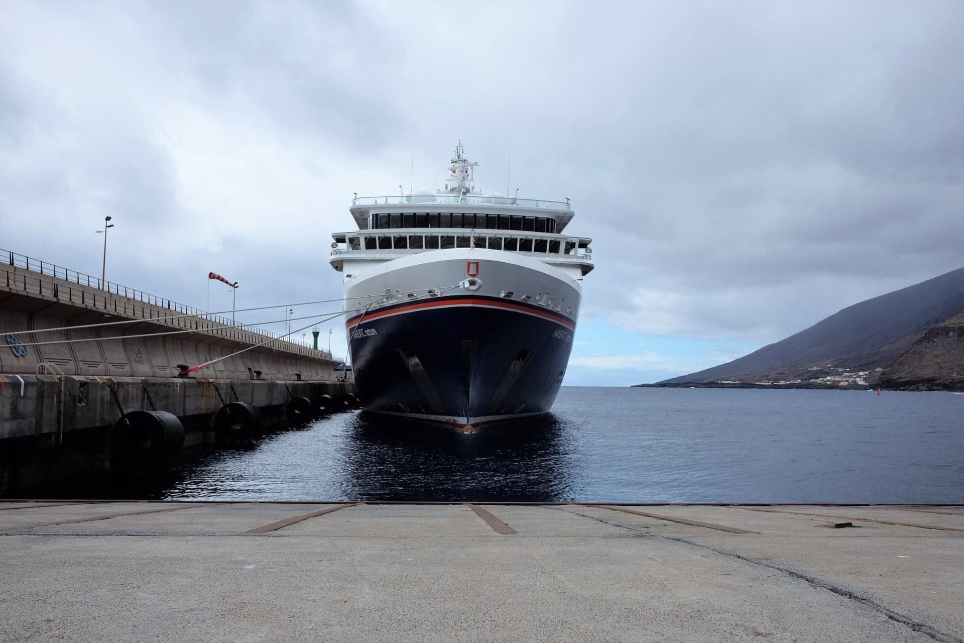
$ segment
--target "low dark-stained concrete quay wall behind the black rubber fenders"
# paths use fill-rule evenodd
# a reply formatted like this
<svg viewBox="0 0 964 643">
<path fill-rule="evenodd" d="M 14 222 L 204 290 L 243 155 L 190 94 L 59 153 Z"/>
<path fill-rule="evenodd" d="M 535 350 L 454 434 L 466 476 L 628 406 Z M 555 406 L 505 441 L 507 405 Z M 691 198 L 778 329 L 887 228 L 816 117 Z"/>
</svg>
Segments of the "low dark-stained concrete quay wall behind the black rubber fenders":
<svg viewBox="0 0 964 643">
<path fill-rule="evenodd" d="M 305 420 L 347 410 L 353 391 L 350 382 L 0 375 L 0 496 L 115 469 L 164 468 L 182 449 L 223 442 L 213 420 L 234 402 L 258 410 L 248 437 L 299 421 L 289 413 L 295 400 L 310 401 L 311 411 L 300 416 Z M 119 457 L 117 443 L 130 430 L 121 417 L 155 411 L 177 418 L 183 442 L 157 459 Z"/>
</svg>

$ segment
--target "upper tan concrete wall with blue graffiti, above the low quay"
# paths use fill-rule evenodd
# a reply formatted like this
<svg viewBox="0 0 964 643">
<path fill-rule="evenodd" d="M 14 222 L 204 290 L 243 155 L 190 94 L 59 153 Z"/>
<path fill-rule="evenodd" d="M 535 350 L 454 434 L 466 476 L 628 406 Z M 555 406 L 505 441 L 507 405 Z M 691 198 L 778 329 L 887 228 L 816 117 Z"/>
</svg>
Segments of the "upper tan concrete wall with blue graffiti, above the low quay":
<svg viewBox="0 0 964 643">
<path fill-rule="evenodd" d="M 267 380 L 337 380 L 335 366 L 340 361 L 325 351 L 260 329 L 231 328 L 229 322 L 224 323 L 228 320 L 210 319 L 201 311 L 170 300 L 115 284 L 106 286 L 117 288 L 118 292 L 18 266 L 0 266 L 0 373 L 37 373 L 40 364 L 45 363 L 51 365 L 49 372 L 65 375 L 164 378 L 177 373 L 177 364 L 194 366 L 267 342 L 207 366 L 198 374 L 238 380 L 256 379 L 260 371 L 260 378 Z M 136 321 L 41 332 L 121 320 Z M 130 337 L 175 331 L 186 332 Z M 8 345 L 77 339 L 96 340 Z"/>
</svg>

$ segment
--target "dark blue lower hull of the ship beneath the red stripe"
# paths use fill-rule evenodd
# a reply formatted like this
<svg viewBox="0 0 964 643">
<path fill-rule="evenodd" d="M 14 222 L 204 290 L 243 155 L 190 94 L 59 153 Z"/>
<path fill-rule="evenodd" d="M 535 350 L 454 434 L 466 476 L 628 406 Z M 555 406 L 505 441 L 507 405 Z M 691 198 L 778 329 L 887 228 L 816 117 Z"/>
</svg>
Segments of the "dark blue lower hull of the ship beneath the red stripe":
<svg viewBox="0 0 964 643">
<path fill-rule="evenodd" d="M 546 308 L 460 296 L 383 308 L 348 329 L 365 409 L 466 425 L 548 412 L 575 323 Z"/>
</svg>

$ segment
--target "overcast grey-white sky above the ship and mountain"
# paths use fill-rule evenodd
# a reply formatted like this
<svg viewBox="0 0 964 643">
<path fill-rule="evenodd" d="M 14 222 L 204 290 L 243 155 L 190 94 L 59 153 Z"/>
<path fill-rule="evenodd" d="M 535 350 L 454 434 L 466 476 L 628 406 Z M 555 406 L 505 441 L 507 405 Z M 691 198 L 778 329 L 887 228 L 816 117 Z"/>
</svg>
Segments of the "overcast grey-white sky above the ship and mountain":
<svg viewBox="0 0 964 643">
<path fill-rule="evenodd" d="M 111 215 L 108 279 L 185 304 L 211 270 L 239 308 L 339 297 L 352 193 L 435 189 L 459 140 L 483 190 L 568 197 L 595 239 L 569 385 L 709 367 L 964 265 L 961 2 L 0 15 L 0 248 L 98 275 Z"/>
</svg>

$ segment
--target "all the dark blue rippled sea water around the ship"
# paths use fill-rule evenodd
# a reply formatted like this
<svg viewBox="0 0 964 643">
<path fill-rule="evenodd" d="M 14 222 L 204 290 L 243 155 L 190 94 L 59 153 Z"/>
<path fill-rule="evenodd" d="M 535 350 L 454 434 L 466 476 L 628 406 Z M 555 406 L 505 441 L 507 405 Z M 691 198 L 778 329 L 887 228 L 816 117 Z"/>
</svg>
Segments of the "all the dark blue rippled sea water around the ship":
<svg viewBox="0 0 964 643">
<path fill-rule="evenodd" d="M 964 503 L 964 396 L 562 388 L 476 433 L 329 415 L 184 463 L 165 499 Z"/>
</svg>

